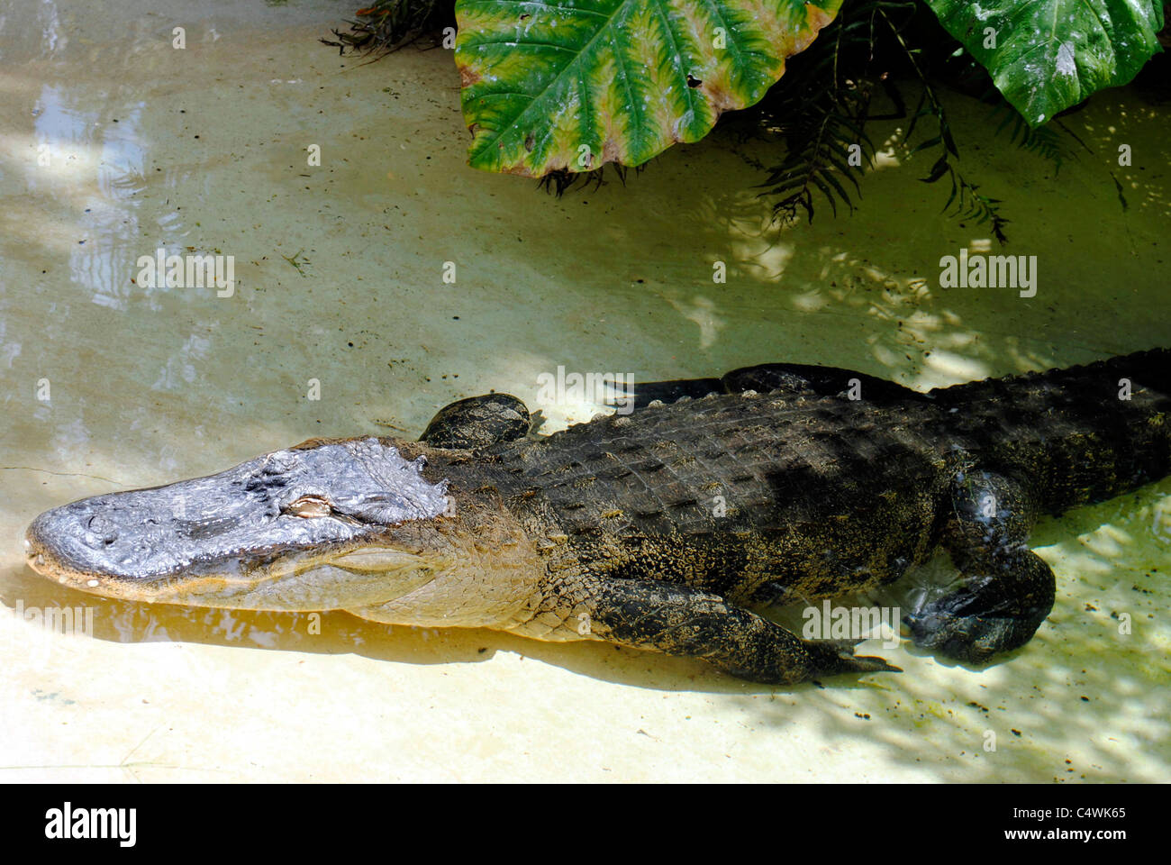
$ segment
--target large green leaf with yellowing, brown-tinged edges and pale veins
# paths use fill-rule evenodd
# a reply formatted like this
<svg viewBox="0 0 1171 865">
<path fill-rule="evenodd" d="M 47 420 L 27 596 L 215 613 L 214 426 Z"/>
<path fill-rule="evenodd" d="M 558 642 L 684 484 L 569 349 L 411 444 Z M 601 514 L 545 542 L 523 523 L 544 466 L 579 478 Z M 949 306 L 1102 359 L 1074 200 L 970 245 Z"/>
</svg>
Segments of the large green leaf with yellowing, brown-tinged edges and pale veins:
<svg viewBox="0 0 1171 865">
<path fill-rule="evenodd" d="M 639 165 L 760 100 L 842 0 L 458 0 L 468 162 Z"/>
</svg>

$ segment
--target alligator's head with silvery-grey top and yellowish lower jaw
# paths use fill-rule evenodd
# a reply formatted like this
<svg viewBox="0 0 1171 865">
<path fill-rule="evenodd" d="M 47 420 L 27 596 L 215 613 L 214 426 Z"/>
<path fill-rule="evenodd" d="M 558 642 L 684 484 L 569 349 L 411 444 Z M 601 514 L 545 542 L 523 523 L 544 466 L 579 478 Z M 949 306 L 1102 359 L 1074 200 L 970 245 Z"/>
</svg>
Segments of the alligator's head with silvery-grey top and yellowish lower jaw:
<svg viewBox="0 0 1171 865">
<path fill-rule="evenodd" d="M 314 441 L 217 475 L 54 508 L 29 565 L 114 598 L 247 609 L 384 602 L 452 566 L 452 504 L 392 440 Z"/>
</svg>

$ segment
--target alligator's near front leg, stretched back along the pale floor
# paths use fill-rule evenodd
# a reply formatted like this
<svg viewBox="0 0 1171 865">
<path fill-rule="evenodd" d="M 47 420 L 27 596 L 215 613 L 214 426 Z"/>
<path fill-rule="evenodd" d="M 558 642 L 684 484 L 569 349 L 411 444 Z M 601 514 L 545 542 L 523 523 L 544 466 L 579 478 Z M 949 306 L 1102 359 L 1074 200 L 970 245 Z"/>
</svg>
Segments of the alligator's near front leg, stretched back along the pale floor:
<svg viewBox="0 0 1171 865">
<path fill-rule="evenodd" d="M 899 672 L 881 658 L 855 656 L 849 643 L 801 640 L 719 595 L 689 586 L 600 579 L 587 606 L 594 636 L 701 658 L 754 682 L 794 684 L 834 673 Z"/>
</svg>

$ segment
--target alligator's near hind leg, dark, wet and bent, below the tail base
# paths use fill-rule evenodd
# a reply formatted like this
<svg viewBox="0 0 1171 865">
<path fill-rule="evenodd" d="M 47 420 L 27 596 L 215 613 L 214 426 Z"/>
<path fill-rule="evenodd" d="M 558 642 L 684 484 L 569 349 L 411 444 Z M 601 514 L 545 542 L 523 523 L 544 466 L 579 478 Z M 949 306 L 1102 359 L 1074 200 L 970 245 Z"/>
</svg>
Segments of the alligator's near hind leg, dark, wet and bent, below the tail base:
<svg viewBox="0 0 1171 865">
<path fill-rule="evenodd" d="M 944 545 L 964 586 L 903 618 L 917 646 L 982 662 L 1023 646 L 1053 608 L 1053 571 L 1026 540 L 1033 508 L 1016 482 L 957 476 Z"/>
</svg>

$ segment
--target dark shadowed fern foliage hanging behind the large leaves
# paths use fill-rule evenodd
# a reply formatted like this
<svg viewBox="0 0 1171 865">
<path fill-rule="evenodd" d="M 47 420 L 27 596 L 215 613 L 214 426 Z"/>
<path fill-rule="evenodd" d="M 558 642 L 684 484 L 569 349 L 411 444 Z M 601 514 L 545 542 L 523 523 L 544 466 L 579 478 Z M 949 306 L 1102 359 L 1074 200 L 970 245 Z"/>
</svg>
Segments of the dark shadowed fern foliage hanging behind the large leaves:
<svg viewBox="0 0 1171 865">
<path fill-rule="evenodd" d="M 335 39 L 321 41 L 342 53 L 395 50 L 453 28 L 456 0 L 374 0 L 356 14 L 358 20 L 349 21 L 350 32 L 335 29 Z M 789 61 L 785 76 L 768 95 L 756 105 L 725 115 L 719 128 L 741 139 L 763 137 L 783 143 L 785 155 L 775 164 L 753 163 L 766 172 L 760 195 L 772 200 L 774 219 L 790 224 L 804 216 L 812 220 L 821 200 L 835 214 L 840 204 L 852 212 L 855 199 L 862 197 L 860 181 L 874 165 L 868 122 L 908 116 L 895 83 L 899 80 L 916 81 L 920 91 L 905 141 L 910 143 L 920 122 L 929 125 L 927 137 L 910 152 L 937 151 L 922 181 L 934 184 L 946 178 L 951 191 L 943 210 L 988 224 L 997 239 L 1006 243 L 1009 220 L 1001 213 L 1001 202 L 982 195 L 957 166 L 959 147 L 937 88 L 949 87 L 992 104 L 993 117 L 999 120 L 997 131 L 1007 130 L 1009 141 L 1050 161 L 1055 171 L 1071 151 L 1052 127 L 1029 129 L 992 87 L 984 69 L 920 2 L 845 0 L 835 21 Z M 889 103 L 891 110 L 875 114 L 876 98 Z M 1060 121 L 1054 125 L 1061 127 Z M 639 165 L 636 172 L 644 168 Z M 541 178 L 540 186 L 561 196 L 577 188 L 596 188 L 608 175 L 625 184 L 626 172 L 625 166 L 614 164 L 586 172 L 555 171 Z"/>
</svg>

